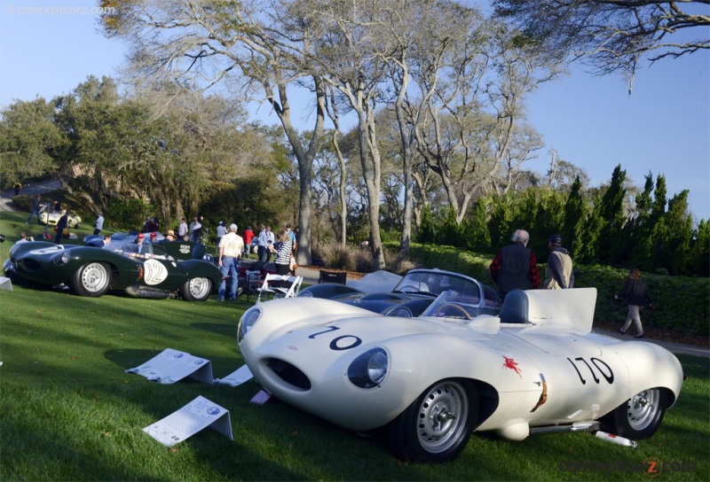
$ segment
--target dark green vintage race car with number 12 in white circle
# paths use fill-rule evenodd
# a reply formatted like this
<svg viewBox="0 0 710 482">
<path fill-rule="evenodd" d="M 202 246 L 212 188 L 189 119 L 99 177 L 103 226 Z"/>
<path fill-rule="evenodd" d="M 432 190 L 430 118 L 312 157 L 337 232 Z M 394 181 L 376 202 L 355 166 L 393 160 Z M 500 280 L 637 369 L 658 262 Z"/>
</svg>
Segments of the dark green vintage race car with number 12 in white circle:
<svg viewBox="0 0 710 482">
<path fill-rule="evenodd" d="M 81 296 L 101 296 L 122 290 L 139 298 L 179 294 L 204 301 L 222 281 L 212 263 L 176 260 L 162 244 L 123 244 L 117 250 L 34 241 L 12 246 L 4 263 L 5 276 L 32 284 L 67 284 Z M 176 243 L 177 247 L 177 243 Z M 140 253 L 138 253 L 140 251 Z"/>
</svg>

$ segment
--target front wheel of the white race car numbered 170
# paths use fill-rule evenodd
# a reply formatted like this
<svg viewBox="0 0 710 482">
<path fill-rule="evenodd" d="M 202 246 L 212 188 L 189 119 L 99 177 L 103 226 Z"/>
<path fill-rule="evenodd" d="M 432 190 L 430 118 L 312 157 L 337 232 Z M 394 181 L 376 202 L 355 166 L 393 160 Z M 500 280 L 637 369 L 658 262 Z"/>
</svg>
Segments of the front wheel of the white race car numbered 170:
<svg viewBox="0 0 710 482">
<path fill-rule="evenodd" d="M 476 424 L 476 387 L 465 380 L 442 380 L 387 426 L 394 454 L 406 461 L 446 462 L 461 453 Z"/>
</svg>

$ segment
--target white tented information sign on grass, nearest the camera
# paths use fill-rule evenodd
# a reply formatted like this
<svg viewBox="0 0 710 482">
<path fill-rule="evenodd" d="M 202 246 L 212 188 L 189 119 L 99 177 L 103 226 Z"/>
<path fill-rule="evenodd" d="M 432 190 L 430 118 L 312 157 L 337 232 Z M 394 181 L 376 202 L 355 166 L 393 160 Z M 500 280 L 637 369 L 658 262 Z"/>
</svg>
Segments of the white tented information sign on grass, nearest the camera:
<svg viewBox="0 0 710 482">
<path fill-rule="evenodd" d="M 230 440 L 234 439 L 229 410 L 202 396 L 197 397 L 177 412 L 148 425 L 143 431 L 165 447 L 172 447 L 192 437 L 205 427 L 218 431 Z"/>
</svg>

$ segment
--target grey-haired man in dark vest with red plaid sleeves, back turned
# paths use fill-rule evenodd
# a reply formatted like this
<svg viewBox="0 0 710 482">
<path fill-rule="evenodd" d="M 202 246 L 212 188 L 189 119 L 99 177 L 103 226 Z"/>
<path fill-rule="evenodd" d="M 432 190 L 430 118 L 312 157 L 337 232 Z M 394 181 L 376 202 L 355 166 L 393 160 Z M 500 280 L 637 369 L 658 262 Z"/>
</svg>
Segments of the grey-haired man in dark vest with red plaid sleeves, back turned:
<svg viewBox="0 0 710 482">
<path fill-rule="evenodd" d="M 513 290 L 540 288 L 538 261 L 533 250 L 527 247 L 530 235 L 525 229 L 517 229 L 510 240 L 513 244 L 496 253 L 490 267 L 501 299 Z"/>
</svg>

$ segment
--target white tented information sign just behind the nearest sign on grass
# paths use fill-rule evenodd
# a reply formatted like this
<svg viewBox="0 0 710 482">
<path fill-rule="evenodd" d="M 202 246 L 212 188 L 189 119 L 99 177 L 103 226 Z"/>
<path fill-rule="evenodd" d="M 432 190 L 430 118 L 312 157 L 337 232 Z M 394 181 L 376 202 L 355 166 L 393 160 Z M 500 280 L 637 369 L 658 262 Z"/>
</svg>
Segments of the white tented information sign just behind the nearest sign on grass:
<svg viewBox="0 0 710 482">
<path fill-rule="evenodd" d="M 166 348 L 151 360 L 134 369 L 127 369 L 127 373 L 142 375 L 148 380 L 159 384 L 173 384 L 185 377 L 212 385 L 212 363 L 204 358 Z"/>
</svg>

